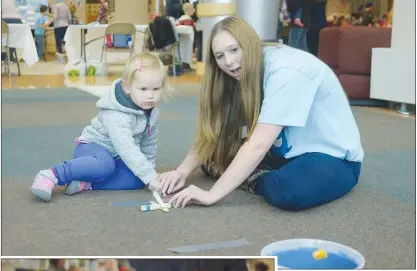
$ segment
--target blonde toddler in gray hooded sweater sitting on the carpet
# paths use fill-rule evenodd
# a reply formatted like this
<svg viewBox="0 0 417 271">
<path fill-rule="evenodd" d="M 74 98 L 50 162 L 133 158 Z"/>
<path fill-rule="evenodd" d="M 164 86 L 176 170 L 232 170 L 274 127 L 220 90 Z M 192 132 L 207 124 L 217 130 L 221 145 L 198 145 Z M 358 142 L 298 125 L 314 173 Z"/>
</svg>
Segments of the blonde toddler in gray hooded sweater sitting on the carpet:
<svg viewBox="0 0 417 271">
<path fill-rule="evenodd" d="M 160 190 L 155 171 L 158 109 L 167 73 L 157 56 L 140 53 L 126 63 L 123 77 L 97 102 L 98 116 L 76 141 L 72 160 L 41 170 L 31 191 L 45 202 L 64 186 L 66 195 L 86 190 Z"/>
</svg>

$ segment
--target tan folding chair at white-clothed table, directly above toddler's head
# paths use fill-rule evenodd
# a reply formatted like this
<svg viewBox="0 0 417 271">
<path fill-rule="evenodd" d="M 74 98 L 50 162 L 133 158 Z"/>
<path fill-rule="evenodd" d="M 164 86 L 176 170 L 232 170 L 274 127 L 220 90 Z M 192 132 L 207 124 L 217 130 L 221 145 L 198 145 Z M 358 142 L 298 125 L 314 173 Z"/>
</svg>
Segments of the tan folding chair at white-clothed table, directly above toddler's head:
<svg viewBox="0 0 417 271">
<path fill-rule="evenodd" d="M 129 53 L 129 58 L 135 51 L 135 40 L 136 40 L 136 27 L 131 23 L 113 23 L 107 26 L 105 34 L 104 34 L 104 41 L 103 41 L 103 48 L 101 51 L 101 58 L 100 62 L 103 62 L 103 55 L 105 59 L 105 63 L 107 63 L 107 52 L 127 52 Z M 132 45 L 126 48 L 109 48 L 107 46 L 107 36 L 113 35 L 130 35 L 132 37 Z"/>
</svg>

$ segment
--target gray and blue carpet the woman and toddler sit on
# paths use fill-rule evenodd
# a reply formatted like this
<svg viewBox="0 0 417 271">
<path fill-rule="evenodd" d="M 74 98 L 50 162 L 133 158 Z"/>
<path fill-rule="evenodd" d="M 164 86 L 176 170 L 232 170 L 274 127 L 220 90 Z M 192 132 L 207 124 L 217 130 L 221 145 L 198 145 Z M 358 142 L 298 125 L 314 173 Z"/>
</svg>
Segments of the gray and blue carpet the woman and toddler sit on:
<svg viewBox="0 0 417 271">
<path fill-rule="evenodd" d="M 157 162 L 178 165 L 197 118 L 194 85 L 161 104 Z M 184 91 L 182 91 L 184 90 Z M 188 91 L 187 91 L 188 90 Z M 246 239 L 249 246 L 188 255 L 259 255 L 288 238 L 320 238 L 359 250 L 367 268 L 415 268 L 415 120 L 354 108 L 365 149 L 358 186 L 346 197 L 303 212 L 286 212 L 235 191 L 211 207 L 142 213 L 115 202 L 149 200 L 145 191 L 93 191 L 50 204 L 29 192 L 39 169 L 71 157 L 74 138 L 97 112 L 96 98 L 76 89 L 3 92 L 2 251 L 7 256 L 177 255 L 166 248 Z M 191 178 L 212 181 L 201 172 Z"/>
</svg>

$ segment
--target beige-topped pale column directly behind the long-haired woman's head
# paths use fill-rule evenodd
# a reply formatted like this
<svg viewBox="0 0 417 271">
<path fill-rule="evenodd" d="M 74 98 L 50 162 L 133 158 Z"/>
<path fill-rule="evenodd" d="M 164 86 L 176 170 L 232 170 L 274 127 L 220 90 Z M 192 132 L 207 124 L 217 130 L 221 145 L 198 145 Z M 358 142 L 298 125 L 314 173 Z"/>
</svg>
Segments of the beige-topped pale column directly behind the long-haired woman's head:
<svg viewBox="0 0 417 271">
<path fill-rule="evenodd" d="M 239 0 L 240 1 L 240 0 Z M 197 5 L 197 16 L 203 29 L 203 61 L 197 63 L 197 74 L 204 74 L 204 59 L 207 49 L 207 40 L 213 26 L 227 18 L 236 14 L 236 0 L 200 0 Z"/>
</svg>

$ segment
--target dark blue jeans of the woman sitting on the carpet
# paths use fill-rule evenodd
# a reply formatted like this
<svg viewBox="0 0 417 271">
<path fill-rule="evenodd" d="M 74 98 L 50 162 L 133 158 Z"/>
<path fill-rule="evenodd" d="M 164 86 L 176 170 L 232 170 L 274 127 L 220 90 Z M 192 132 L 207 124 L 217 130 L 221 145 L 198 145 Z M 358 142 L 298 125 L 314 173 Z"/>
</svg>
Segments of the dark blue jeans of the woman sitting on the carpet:
<svg viewBox="0 0 417 271">
<path fill-rule="evenodd" d="M 256 181 L 256 194 L 280 209 L 313 208 L 349 193 L 358 183 L 361 163 L 323 153 L 305 153 L 292 159 L 268 153 L 261 169 L 270 170 Z M 206 174 L 207 169 L 203 168 Z"/>
</svg>

